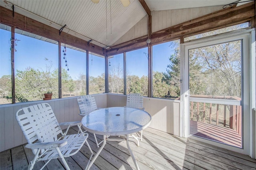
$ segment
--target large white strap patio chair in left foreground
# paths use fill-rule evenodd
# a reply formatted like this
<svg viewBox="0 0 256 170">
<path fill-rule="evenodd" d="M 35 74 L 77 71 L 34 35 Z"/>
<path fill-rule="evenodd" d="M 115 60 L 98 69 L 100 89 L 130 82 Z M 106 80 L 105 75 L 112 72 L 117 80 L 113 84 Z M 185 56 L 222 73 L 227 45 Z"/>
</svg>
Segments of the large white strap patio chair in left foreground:
<svg viewBox="0 0 256 170">
<path fill-rule="evenodd" d="M 28 144 L 26 148 L 32 149 L 34 159 L 30 161 L 28 169 L 32 170 L 34 164 L 40 160 L 48 160 L 41 170 L 52 159 L 60 158 L 66 170 L 70 170 L 65 157 L 76 154 L 86 142 L 90 152 L 92 149 L 87 141 L 87 133 L 82 132 L 81 122 L 58 123 L 52 107 L 47 103 L 36 104 L 33 106 L 23 107 L 16 112 L 16 119 L 20 125 Z M 66 135 L 62 133 L 60 125 L 77 125 L 78 134 Z M 69 128 L 68 127 L 68 128 Z M 62 139 L 62 140 L 60 140 Z M 90 159 L 92 158 L 90 156 Z M 88 163 L 90 162 L 90 159 Z M 87 164 L 88 166 L 88 164 Z M 87 168 L 87 167 L 86 167 Z"/>
</svg>

